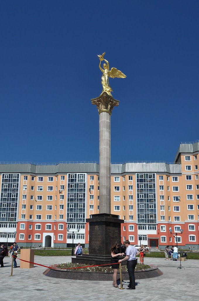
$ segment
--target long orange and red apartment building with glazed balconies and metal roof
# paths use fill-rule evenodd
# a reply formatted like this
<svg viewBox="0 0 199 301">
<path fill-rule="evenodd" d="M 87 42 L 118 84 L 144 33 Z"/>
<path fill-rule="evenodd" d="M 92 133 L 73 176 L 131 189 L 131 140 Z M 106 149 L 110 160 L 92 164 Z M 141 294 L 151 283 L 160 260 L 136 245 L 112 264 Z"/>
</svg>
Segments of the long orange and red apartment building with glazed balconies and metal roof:
<svg viewBox="0 0 199 301">
<path fill-rule="evenodd" d="M 198 248 L 198 166 L 198 141 L 180 144 L 172 164 L 111 164 L 111 213 L 124 219 L 121 240 L 150 247 L 177 240 L 179 247 Z M 1 242 L 88 246 L 86 218 L 100 206 L 99 164 L 1 162 L 0 180 Z"/>
</svg>

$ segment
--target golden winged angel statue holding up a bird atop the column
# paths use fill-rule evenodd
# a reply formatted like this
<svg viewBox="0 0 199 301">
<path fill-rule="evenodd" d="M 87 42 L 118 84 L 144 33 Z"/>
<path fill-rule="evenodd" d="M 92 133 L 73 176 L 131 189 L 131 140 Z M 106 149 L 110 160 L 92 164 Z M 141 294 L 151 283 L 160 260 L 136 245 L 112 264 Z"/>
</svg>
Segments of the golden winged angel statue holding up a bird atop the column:
<svg viewBox="0 0 199 301">
<path fill-rule="evenodd" d="M 107 60 L 105 60 L 104 58 L 105 52 L 102 55 L 98 55 L 99 57 L 99 69 L 102 71 L 102 93 L 105 91 L 106 93 L 108 93 L 109 95 L 111 95 L 111 92 L 113 92 L 112 88 L 109 85 L 109 81 L 108 81 L 108 77 L 111 78 L 125 78 L 126 75 L 124 73 L 122 73 L 120 70 L 117 70 L 116 68 L 111 68 L 111 70 L 109 70 L 109 63 Z M 101 62 L 105 61 L 107 64 L 103 64 L 104 69 L 102 69 L 101 67 Z"/>
</svg>

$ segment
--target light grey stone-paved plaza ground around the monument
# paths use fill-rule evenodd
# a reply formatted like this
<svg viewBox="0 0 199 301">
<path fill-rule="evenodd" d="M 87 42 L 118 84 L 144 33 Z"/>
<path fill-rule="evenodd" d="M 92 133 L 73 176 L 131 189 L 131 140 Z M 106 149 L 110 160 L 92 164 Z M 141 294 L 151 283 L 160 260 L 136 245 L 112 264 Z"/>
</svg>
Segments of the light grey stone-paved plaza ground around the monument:
<svg viewBox="0 0 199 301">
<path fill-rule="evenodd" d="M 17 263 L 19 259 L 16 259 Z M 34 256 L 34 262 L 51 265 L 71 261 L 71 256 Z M 139 262 L 139 259 L 138 259 Z M 85 301 L 85 300 L 133 300 L 133 301 L 199 301 L 199 260 L 182 262 L 184 269 L 177 269 L 179 261 L 163 258 L 145 258 L 146 264 L 158 265 L 164 273 L 156 278 L 136 281 L 136 290 L 126 290 L 129 279 L 123 285 L 125 290 L 116 289 L 110 281 L 79 281 L 50 278 L 43 275 L 46 268 L 35 265 L 31 269 L 13 269 L 11 259 L 4 258 L 1 268 L 1 299 L 20 301 Z M 119 276 L 119 275 L 118 275 Z"/>
</svg>

